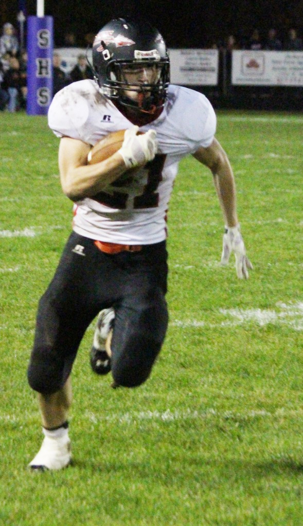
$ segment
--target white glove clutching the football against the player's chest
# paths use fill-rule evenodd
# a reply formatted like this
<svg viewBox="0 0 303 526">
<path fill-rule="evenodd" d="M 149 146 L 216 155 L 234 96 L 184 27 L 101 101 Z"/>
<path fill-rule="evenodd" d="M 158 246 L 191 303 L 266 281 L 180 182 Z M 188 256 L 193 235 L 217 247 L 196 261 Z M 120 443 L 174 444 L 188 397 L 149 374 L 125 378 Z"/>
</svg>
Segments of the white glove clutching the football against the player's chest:
<svg viewBox="0 0 303 526">
<path fill-rule="evenodd" d="M 142 135 L 136 135 L 139 126 L 133 126 L 125 131 L 123 144 L 119 154 L 122 155 L 126 168 L 144 166 L 151 161 L 157 152 L 155 130 L 148 130 Z"/>
</svg>

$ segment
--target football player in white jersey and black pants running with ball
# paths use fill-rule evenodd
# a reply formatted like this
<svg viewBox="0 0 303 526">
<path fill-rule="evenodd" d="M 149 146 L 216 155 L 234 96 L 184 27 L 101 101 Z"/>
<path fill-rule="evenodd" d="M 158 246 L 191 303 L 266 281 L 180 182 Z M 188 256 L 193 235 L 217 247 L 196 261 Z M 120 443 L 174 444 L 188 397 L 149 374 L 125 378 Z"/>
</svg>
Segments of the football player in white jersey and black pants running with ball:
<svg viewBox="0 0 303 526">
<path fill-rule="evenodd" d="M 170 85 L 169 67 L 157 29 L 115 19 L 95 37 L 95 79 L 70 84 L 51 104 L 48 123 L 60 138 L 61 185 L 74 219 L 38 305 L 28 381 L 38 392 L 44 439 L 31 469 L 70 463 L 71 370 L 97 315 L 93 370 L 111 371 L 114 387 L 139 386 L 150 375 L 168 326 L 166 217 L 184 156 L 212 173 L 225 222 L 222 264 L 233 251 L 239 278 L 252 268 L 214 110 L 201 93 Z M 116 153 L 87 163 L 97 141 L 124 129 Z"/>
</svg>

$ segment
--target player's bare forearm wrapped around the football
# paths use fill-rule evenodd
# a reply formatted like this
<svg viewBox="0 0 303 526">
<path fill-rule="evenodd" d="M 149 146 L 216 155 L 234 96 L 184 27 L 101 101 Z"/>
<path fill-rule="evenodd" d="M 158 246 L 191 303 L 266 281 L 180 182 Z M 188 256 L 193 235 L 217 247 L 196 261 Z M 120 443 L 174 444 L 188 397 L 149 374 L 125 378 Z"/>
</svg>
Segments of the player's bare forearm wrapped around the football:
<svg viewBox="0 0 303 526">
<path fill-rule="evenodd" d="M 62 189 L 72 201 L 92 197 L 113 183 L 125 170 L 121 155 L 116 153 L 101 163 L 70 167 L 61 176 Z"/>
</svg>

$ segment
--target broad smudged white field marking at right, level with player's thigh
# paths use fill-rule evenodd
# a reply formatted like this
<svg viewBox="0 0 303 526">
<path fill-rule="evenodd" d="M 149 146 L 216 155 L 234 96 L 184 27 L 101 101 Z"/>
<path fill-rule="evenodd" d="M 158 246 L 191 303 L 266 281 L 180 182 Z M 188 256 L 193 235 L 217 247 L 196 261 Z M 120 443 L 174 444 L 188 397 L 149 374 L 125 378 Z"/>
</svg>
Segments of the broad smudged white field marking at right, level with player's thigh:
<svg viewBox="0 0 303 526">
<path fill-rule="evenodd" d="M 279 301 L 277 309 L 219 309 L 217 313 L 226 316 L 227 321 L 209 323 L 204 320 L 173 320 L 170 325 L 181 329 L 200 327 L 237 327 L 246 323 L 256 323 L 259 327 L 265 327 L 269 323 L 273 325 L 287 325 L 296 330 L 303 331 L 303 302 L 291 302 L 286 304 Z"/>
</svg>

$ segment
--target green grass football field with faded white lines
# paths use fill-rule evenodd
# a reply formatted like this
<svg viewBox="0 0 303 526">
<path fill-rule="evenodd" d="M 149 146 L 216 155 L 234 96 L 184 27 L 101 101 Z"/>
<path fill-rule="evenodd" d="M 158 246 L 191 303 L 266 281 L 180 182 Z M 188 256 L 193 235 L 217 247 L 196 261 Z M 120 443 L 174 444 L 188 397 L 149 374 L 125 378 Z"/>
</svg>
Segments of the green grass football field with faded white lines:
<svg viewBox="0 0 303 526">
<path fill-rule="evenodd" d="M 112 390 L 87 331 L 73 370 L 74 464 L 30 473 L 42 441 L 27 385 L 38 299 L 72 204 L 45 117 L 1 114 L 0 524 L 302 526 L 303 187 L 300 115 L 219 113 L 254 269 L 219 265 L 212 178 L 180 165 L 169 213 L 170 325 L 151 378 Z"/>
</svg>

